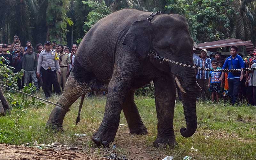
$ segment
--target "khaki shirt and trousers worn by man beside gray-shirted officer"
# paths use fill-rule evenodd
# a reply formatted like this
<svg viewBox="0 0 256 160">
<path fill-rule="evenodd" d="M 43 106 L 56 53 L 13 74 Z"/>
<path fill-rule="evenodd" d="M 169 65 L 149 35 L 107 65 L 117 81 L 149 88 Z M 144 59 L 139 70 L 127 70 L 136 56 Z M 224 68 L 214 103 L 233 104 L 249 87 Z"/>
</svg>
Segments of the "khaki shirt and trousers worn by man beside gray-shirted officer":
<svg viewBox="0 0 256 160">
<path fill-rule="evenodd" d="M 61 75 L 60 74 L 57 74 L 58 76 L 58 83 L 61 87 L 61 84 L 62 84 L 62 91 L 64 90 L 65 88 L 65 84 L 67 82 L 67 72 L 68 72 L 68 65 L 69 63 L 71 63 L 71 60 L 69 58 L 69 55 L 68 53 L 65 53 L 63 52 L 63 54 L 60 54 L 60 53 L 57 53 L 58 55 L 58 58 L 60 59 L 61 57 L 61 61 L 60 61 L 60 72 L 61 72 Z"/>
</svg>

